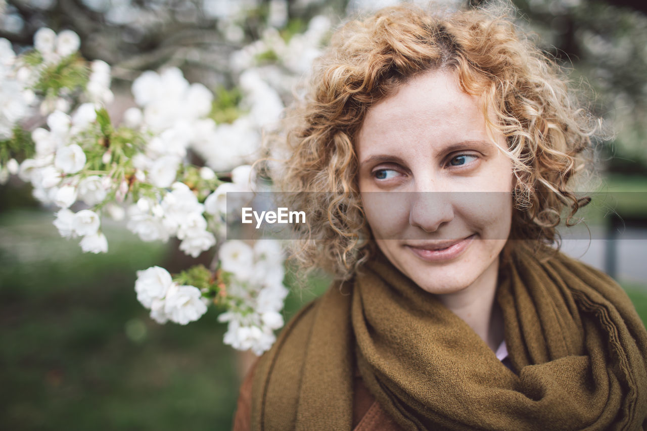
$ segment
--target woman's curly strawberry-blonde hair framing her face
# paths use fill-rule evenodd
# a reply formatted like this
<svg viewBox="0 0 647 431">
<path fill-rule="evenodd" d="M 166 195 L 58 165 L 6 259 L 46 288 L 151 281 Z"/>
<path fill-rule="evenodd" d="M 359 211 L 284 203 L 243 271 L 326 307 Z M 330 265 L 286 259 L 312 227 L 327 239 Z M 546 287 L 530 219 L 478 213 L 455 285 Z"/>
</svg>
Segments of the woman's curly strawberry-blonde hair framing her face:
<svg viewBox="0 0 647 431">
<path fill-rule="evenodd" d="M 293 241 L 301 267 L 347 278 L 369 258 L 356 135 L 373 104 L 437 69 L 457 72 L 461 89 L 481 96 L 488 127 L 507 139 L 502 150 L 516 178 L 510 238 L 554 243 L 562 212 L 568 222 L 587 203 L 567 184 L 584 167 L 595 124 L 571 101 L 555 61 L 487 10 L 436 16 L 415 6 L 384 8 L 336 31 L 309 94 L 285 119 L 289 157 L 274 181 L 285 192 L 309 192 L 290 193 L 288 203 L 308 214 L 295 227 L 302 240 Z"/>
</svg>

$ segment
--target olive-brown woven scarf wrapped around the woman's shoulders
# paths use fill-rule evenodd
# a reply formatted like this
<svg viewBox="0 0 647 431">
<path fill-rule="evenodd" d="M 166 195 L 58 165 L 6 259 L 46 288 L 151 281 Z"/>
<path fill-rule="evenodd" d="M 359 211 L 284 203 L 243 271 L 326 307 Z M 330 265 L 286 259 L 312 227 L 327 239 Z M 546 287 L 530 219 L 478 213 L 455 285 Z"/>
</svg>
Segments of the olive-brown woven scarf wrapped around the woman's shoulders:
<svg viewBox="0 0 647 431">
<path fill-rule="evenodd" d="M 647 332 L 611 278 L 517 247 L 496 299 L 517 373 L 378 256 L 261 358 L 252 428 L 350 430 L 357 367 L 406 430 L 647 429 Z"/>
</svg>

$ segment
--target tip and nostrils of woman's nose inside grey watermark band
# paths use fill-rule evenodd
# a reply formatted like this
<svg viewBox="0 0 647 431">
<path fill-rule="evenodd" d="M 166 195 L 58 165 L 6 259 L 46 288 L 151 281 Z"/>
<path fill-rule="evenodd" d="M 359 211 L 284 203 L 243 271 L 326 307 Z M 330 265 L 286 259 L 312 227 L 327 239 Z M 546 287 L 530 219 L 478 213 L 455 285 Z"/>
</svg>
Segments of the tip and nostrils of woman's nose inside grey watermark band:
<svg viewBox="0 0 647 431">
<path fill-rule="evenodd" d="M 411 192 L 409 224 L 435 232 L 454 219 L 452 192 Z"/>
</svg>

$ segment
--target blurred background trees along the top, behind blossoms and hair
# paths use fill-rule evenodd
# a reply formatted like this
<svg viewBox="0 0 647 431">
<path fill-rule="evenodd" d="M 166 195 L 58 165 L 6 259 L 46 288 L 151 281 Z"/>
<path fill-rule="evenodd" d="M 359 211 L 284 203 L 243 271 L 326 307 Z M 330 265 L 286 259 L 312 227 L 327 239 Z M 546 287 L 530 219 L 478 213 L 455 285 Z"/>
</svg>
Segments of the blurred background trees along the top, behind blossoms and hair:
<svg viewBox="0 0 647 431">
<path fill-rule="evenodd" d="M 0 37 L 32 44 L 40 27 L 69 28 L 89 60 L 113 66 L 129 84 L 138 72 L 178 66 L 191 82 L 232 87 L 231 54 L 267 27 L 284 39 L 323 14 L 337 23 L 356 11 L 397 1 L 365 0 L 0 0 Z M 419 2 L 427 3 L 427 2 Z M 441 6 L 463 1 L 444 0 Z M 471 6 L 481 1 L 471 0 Z M 604 146 L 608 169 L 642 173 L 647 166 L 647 6 L 604 0 L 514 0 L 520 25 L 537 43 L 583 77 L 596 95 L 593 111 L 615 139 Z M 118 83 L 118 82 L 117 82 Z"/>
</svg>

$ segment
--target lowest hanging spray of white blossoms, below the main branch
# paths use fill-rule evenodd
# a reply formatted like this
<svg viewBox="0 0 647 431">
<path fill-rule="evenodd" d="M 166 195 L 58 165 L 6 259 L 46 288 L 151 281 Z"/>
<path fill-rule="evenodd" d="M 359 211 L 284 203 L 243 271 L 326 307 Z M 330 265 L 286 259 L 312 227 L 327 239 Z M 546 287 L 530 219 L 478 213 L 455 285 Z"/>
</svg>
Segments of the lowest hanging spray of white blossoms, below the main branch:
<svg viewBox="0 0 647 431">
<path fill-rule="evenodd" d="M 250 246 L 243 241 L 223 243 L 219 250 L 220 268 L 208 272 L 204 287 L 181 285 L 161 267 L 137 272 L 137 299 L 150 310 L 156 322 L 187 324 L 199 319 L 213 300 L 227 311 L 219 315 L 228 322 L 225 344 L 235 349 L 251 349 L 260 355 L 269 349 L 283 326 L 283 253 L 278 241 L 263 239 Z M 203 269 L 206 271 L 206 269 Z M 224 282 L 226 280 L 226 283 Z"/>
</svg>

